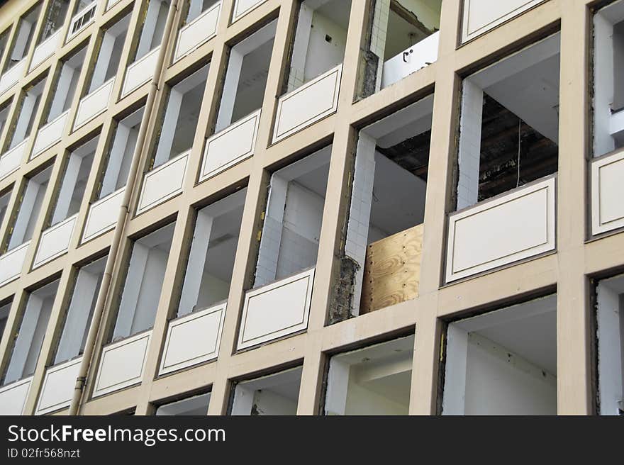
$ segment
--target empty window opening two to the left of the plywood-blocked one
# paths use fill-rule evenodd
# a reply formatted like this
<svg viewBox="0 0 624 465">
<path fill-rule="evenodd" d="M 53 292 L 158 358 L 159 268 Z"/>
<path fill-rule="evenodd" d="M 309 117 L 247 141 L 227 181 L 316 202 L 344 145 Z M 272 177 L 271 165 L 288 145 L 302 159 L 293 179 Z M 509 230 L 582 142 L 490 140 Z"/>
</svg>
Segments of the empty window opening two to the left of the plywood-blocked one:
<svg viewBox="0 0 624 465">
<path fill-rule="evenodd" d="M 227 300 L 246 193 L 241 189 L 197 211 L 178 316 Z"/>
</svg>

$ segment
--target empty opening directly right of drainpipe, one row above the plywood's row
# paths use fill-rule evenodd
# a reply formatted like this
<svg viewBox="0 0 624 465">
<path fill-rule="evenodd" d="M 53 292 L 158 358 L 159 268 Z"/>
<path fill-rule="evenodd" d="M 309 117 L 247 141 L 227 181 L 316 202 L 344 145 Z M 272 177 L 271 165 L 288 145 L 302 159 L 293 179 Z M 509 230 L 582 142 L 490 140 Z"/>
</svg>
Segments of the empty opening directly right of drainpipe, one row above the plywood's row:
<svg viewBox="0 0 624 465">
<path fill-rule="evenodd" d="M 209 67 L 210 65 L 205 65 L 178 84 L 169 87 L 165 112 L 160 121 L 153 167 L 182 155 L 193 146 Z"/>
</svg>

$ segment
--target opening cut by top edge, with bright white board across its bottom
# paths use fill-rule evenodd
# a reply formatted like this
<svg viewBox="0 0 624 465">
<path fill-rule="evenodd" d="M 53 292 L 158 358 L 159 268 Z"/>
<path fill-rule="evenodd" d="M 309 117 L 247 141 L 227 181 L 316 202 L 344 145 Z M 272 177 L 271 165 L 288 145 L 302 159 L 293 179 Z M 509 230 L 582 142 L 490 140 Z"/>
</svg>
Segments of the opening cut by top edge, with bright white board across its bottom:
<svg viewBox="0 0 624 465">
<path fill-rule="evenodd" d="M 442 0 L 373 0 L 362 96 L 394 84 L 438 57 Z"/>
</svg>

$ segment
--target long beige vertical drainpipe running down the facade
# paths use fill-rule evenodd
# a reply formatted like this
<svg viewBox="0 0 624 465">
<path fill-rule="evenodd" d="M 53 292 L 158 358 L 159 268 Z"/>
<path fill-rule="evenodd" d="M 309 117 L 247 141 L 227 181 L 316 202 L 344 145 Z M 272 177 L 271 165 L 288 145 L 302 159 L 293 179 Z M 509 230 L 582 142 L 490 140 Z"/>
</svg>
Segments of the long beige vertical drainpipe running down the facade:
<svg viewBox="0 0 624 465">
<path fill-rule="evenodd" d="M 100 331 L 102 317 L 104 316 L 104 304 L 106 303 L 106 296 L 108 296 L 108 288 L 111 286 L 111 278 L 113 275 L 113 269 L 115 268 L 116 257 L 123 237 L 123 232 L 126 230 L 126 220 L 128 219 L 130 204 L 130 198 L 135 190 L 135 187 L 140 185 L 140 176 L 143 172 L 139 170 L 140 160 L 143 158 L 143 148 L 145 147 L 145 135 L 147 134 L 147 123 L 150 121 L 152 114 L 152 108 L 156 99 L 156 91 L 158 89 L 158 82 L 162 74 L 162 67 L 165 62 L 165 55 L 167 54 L 167 48 L 169 45 L 169 38 L 171 37 L 173 20 L 175 13 L 178 9 L 179 0 L 172 0 L 169 5 L 169 12 L 167 13 L 167 23 L 165 23 L 165 30 L 162 33 L 162 45 L 160 46 L 160 52 L 158 53 L 158 62 L 154 75 L 152 76 L 152 83 L 150 85 L 150 92 L 147 94 L 147 101 L 145 102 L 145 111 L 143 111 L 143 121 L 137 137 L 137 145 L 135 147 L 135 153 L 130 165 L 130 173 L 128 173 L 128 184 L 126 184 L 126 191 L 123 193 L 123 201 L 119 208 L 119 216 L 117 218 L 117 227 L 115 228 L 115 235 L 113 235 L 113 242 L 111 243 L 111 249 L 108 251 L 108 258 L 106 259 L 106 268 L 104 269 L 104 276 L 102 277 L 102 284 L 98 292 L 98 298 L 94 308 L 93 319 L 91 320 L 91 326 L 89 327 L 89 335 L 87 335 L 87 342 L 84 347 L 84 353 L 82 354 L 82 362 L 80 362 L 80 370 L 76 378 L 76 385 L 74 386 L 74 394 L 72 396 L 72 403 L 69 404 L 69 415 L 77 415 L 79 413 L 80 405 L 82 404 L 82 395 L 84 393 L 84 386 L 87 383 L 87 373 L 89 372 L 89 366 L 91 366 L 91 359 L 93 357 L 95 343 Z M 130 184 L 132 183 L 132 184 Z"/>
</svg>

